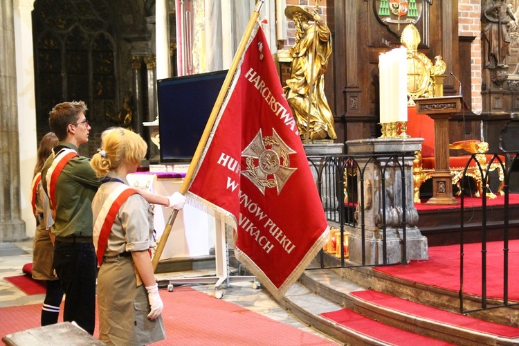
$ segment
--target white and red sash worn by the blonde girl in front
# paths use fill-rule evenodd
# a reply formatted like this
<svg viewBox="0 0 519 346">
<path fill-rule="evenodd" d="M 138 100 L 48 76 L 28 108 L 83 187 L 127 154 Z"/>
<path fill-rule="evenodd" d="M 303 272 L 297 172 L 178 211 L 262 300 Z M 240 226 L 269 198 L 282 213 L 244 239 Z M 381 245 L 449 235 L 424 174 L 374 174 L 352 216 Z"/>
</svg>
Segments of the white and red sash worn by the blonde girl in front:
<svg viewBox="0 0 519 346">
<path fill-rule="evenodd" d="M 107 248 L 108 236 L 110 235 L 113 221 L 116 220 L 120 207 L 132 194 L 136 194 L 136 190 L 127 185 L 121 184 L 113 190 L 108 198 L 102 204 L 98 218 L 93 225 L 93 244 L 98 244 L 96 254 L 98 256 L 98 264 L 102 264 L 102 257 Z M 95 239 L 95 238 L 98 239 Z"/>
</svg>

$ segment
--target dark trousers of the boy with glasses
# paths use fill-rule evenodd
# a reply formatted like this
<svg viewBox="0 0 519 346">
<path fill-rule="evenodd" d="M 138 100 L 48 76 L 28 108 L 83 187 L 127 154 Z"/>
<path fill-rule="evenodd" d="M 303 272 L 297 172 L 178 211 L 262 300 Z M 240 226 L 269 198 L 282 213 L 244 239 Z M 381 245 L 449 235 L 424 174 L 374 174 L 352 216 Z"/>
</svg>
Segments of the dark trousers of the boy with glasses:
<svg viewBox="0 0 519 346">
<path fill-rule="evenodd" d="M 53 266 L 65 292 L 63 320 L 93 335 L 97 259 L 92 243 L 55 242 Z"/>
</svg>

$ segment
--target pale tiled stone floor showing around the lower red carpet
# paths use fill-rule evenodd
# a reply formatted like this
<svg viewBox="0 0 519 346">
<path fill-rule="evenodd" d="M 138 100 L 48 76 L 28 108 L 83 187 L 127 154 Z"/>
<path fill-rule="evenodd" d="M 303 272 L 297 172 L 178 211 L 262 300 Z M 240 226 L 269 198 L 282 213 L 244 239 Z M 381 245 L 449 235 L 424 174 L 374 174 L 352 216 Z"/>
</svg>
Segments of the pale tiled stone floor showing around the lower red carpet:
<svg viewBox="0 0 519 346">
<path fill-rule="evenodd" d="M 7 280 L 3 280 L 3 277 L 21 275 L 21 268 L 24 264 L 32 261 L 33 243 L 31 241 L 18 242 L 14 245 L 25 253 L 10 256 L 0 254 L 0 307 L 42 303 L 44 295 L 26 295 Z M 156 278 L 157 280 L 174 280 L 185 277 L 201 277 L 204 275 L 214 275 L 214 273 L 211 273 L 210 270 L 186 271 L 157 274 Z M 191 284 L 190 286 L 209 295 L 215 295 L 214 284 Z M 233 302 L 234 304 L 261 313 L 268 318 L 285 323 L 286 325 L 291 325 L 298 329 L 320 335 L 328 340 L 335 341 L 321 334 L 319 331 L 316 331 L 316 329 L 304 325 L 304 323 L 280 307 L 275 300 L 271 299 L 264 289 L 253 289 L 252 282 L 233 282 L 230 285 L 224 283 L 219 286 L 219 291 L 224 293 L 223 298 L 221 298 L 222 300 Z"/>
</svg>

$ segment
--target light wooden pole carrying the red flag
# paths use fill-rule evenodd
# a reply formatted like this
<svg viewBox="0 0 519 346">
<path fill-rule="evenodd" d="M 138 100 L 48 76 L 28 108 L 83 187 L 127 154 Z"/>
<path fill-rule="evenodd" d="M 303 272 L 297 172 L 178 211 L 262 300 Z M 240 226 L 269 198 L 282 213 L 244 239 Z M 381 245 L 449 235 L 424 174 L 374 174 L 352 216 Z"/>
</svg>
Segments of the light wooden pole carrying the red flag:
<svg viewBox="0 0 519 346">
<path fill-rule="evenodd" d="M 221 108 L 221 104 L 224 103 L 224 100 L 227 95 L 227 91 L 229 89 L 230 83 L 233 81 L 234 75 L 238 68 L 239 61 L 242 59 L 242 55 L 244 54 L 245 48 L 248 44 L 248 39 L 251 37 L 254 26 L 256 24 L 257 18 L 260 16 L 260 10 L 263 6 L 264 0 L 258 0 L 256 3 L 256 8 L 254 9 L 253 14 L 251 15 L 251 19 L 249 19 L 247 28 L 245 29 L 244 36 L 242 37 L 242 41 L 239 42 L 238 49 L 236 51 L 235 57 L 233 58 L 233 62 L 230 64 L 229 71 L 226 75 L 226 79 L 224 80 L 224 84 L 221 86 L 220 92 L 218 94 L 217 100 L 215 102 L 215 106 L 212 107 L 211 114 L 209 116 L 208 122 L 206 124 L 206 128 L 203 130 L 202 137 L 198 143 L 197 150 L 194 152 L 193 158 L 191 160 L 191 164 L 189 165 L 188 172 L 185 174 L 184 181 L 180 188 L 180 193 L 185 194 L 188 192 L 188 188 L 190 186 L 194 168 L 197 166 L 197 163 L 200 161 L 202 156 L 202 152 L 204 147 L 206 147 L 206 143 L 211 134 L 212 127 L 215 125 L 215 121 L 217 119 L 218 113 Z M 162 252 L 164 250 L 165 244 L 167 242 L 167 237 L 170 236 L 171 228 L 176 219 L 176 215 L 179 213 L 179 210 L 174 209 L 170 217 L 167 219 L 167 224 L 164 228 L 164 232 L 161 236 L 161 241 L 158 242 L 157 249 L 155 251 L 155 255 L 152 259 L 153 271 L 156 271 L 158 260 L 160 260 Z"/>
</svg>

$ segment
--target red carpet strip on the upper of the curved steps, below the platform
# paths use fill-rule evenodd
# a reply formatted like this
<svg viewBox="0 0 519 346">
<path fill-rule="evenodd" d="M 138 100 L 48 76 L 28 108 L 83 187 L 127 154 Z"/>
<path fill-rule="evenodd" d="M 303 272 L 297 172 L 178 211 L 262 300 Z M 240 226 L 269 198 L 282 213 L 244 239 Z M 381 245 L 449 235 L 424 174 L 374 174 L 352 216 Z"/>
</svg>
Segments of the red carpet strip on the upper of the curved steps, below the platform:
<svg viewBox="0 0 519 346">
<path fill-rule="evenodd" d="M 444 310 L 428 307 L 416 302 L 410 302 L 402 298 L 394 297 L 379 291 L 357 291 L 350 293 L 356 298 L 376 304 L 379 307 L 385 307 L 395 311 L 405 313 L 407 316 L 416 316 L 427 318 L 428 320 L 435 320 L 444 325 L 453 325 L 462 327 L 464 329 L 471 329 L 473 331 L 480 331 L 486 334 L 495 336 L 502 336 L 504 338 L 518 338 L 519 328 L 510 327 L 507 325 L 498 325 L 477 318 L 460 315 L 459 313 L 452 313 Z"/>
</svg>

